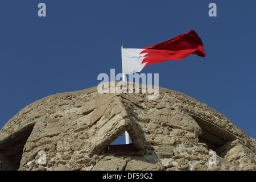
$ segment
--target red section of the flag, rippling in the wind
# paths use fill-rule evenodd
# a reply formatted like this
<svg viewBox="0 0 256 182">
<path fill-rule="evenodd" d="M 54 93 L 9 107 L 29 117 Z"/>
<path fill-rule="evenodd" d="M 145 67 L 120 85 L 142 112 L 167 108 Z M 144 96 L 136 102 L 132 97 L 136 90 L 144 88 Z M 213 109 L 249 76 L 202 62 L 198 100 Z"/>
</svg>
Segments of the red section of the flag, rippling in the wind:
<svg viewBox="0 0 256 182">
<path fill-rule="evenodd" d="M 142 49 L 145 50 L 143 50 L 141 54 L 147 53 L 142 61 L 142 64 L 146 63 L 144 67 L 168 60 L 182 60 L 191 54 L 196 54 L 201 57 L 206 55 L 204 53 L 202 40 L 194 30 L 176 36 L 166 42 Z"/>
</svg>

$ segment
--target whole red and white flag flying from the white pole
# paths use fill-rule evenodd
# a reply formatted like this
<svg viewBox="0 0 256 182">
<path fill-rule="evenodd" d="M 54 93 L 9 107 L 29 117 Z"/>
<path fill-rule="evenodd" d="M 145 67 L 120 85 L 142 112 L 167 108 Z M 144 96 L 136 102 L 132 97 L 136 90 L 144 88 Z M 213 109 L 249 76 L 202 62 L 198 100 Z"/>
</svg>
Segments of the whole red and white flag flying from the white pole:
<svg viewBox="0 0 256 182">
<path fill-rule="evenodd" d="M 140 72 L 150 64 L 182 60 L 191 54 L 205 56 L 204 45 L 194 30 L 154 46 L 139 49 L 122 48 L 123 74 Z"/>
</svg>

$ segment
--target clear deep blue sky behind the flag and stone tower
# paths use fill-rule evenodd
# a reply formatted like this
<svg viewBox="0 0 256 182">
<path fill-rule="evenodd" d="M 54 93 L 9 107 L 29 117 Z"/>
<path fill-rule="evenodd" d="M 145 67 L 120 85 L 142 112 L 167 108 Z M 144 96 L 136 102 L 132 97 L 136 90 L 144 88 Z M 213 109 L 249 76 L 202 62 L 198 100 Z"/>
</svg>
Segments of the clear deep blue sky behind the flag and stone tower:
<svg viewBox="0 0 256 182">
<path fill-rule="evenodd" d="M 38 4 L 46 4 L 46 17 Z M 209 17 L 209 3 L 217 17 Z M 196 30 L 205 58 L 148 65 L 159 86 L 183 92 L 256 138 L 256 1 L 1 0 L 0 128 L 51 94 L 121 73 L 121 44 L 142 48 Z"/>
</svg>

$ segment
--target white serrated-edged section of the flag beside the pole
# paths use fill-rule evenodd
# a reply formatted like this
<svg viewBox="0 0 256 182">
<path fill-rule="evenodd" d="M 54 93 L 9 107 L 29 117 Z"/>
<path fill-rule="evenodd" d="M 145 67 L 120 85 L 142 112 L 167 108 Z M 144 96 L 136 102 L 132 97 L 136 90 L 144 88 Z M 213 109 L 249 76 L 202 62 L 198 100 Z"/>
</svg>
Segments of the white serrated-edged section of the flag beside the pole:
<svg viewBox="0 0 256 182">
<path fill-rule="evenodd" d="M 147 53 L 140 54 L 144 49 L 122 48 L 122 69 L 123 74 L 131 74 L 142 71 L 146 63 L 142 64 Z"/>
</svg>

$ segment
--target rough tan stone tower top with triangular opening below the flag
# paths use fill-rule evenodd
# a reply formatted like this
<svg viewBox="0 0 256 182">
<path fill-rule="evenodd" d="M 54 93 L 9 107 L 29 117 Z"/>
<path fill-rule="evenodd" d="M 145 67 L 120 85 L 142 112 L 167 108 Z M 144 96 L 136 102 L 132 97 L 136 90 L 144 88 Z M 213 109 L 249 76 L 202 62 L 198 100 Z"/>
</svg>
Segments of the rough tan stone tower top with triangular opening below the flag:
<svg viewBox="0 0 256 182">
<path fill-rule="evenodd" d="M 147 96 L 95 86 L 24 107 L 0 131 L 0 170 L 256 169 L 255 139 L 224 115 L 165 88 L 157 100 Z M 109 145 L 125 131 L 132 144 Z"/>
</svg>

